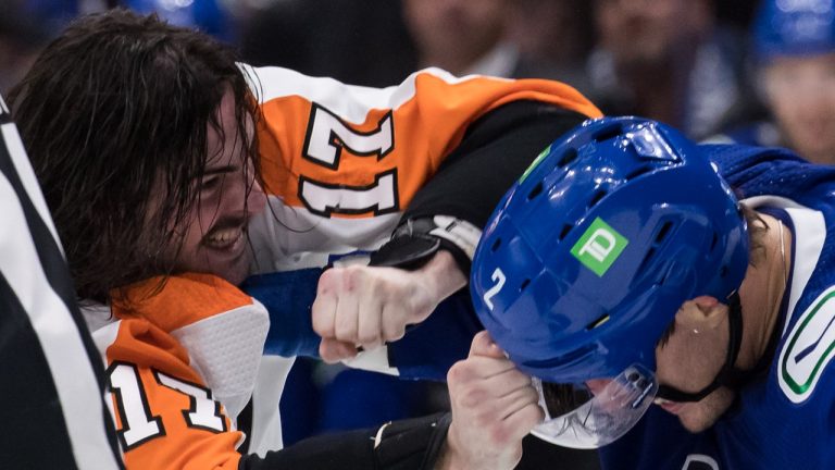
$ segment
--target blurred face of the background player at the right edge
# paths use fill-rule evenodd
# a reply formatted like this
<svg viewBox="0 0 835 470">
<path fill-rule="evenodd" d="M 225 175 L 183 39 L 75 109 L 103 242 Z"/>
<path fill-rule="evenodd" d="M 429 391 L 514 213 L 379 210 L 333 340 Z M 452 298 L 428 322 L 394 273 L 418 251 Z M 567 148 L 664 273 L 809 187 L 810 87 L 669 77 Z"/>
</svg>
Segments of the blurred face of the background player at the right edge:
<svg viewBox="0 0 835 470">
<path fill-rule="evenodd" d="M 786 145 L 815 163 L 835 164 L 835 51 L 776 57 L 761 75 Z"/>
</svg>

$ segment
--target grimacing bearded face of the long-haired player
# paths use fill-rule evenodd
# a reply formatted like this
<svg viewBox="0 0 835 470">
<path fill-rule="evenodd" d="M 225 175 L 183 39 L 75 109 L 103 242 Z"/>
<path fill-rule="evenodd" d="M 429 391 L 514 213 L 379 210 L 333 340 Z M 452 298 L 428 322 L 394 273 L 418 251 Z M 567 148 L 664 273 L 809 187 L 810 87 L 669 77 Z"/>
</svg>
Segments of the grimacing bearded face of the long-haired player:
<svg viewBox="0 0 835 470">
<path fill-rule="evenodd" d="M 209 126 L 209 157 L 198 202 L 187 215 L 179 252 L 165 256 L 173 258 L 176 271 L 211 273 L 237 285 L 247 277 L 251 263 L 247 225 L 251 217 L 264 210 L 266 197 L 254 181 L 253 163 L 245 160 L 230 90 L 225 92 L 217 115 L 224 135 Z M 253 126 L 248 132 L 251 137 Z"/>
</svg>

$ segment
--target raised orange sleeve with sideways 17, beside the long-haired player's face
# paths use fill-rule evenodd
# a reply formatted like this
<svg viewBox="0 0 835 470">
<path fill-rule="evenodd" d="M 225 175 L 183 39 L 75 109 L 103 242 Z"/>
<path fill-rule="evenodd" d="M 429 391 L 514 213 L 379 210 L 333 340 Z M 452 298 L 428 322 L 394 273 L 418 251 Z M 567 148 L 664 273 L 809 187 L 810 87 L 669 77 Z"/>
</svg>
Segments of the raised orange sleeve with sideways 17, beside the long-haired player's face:
<svg viewBox="0 0 835 470">
<path fill-rule="evenodd" d="M 390 211 L 402 210 L 460 144 L 468 126 L 510 101 L 538 100 L 589 118 L 601 115 L 574 88 L 544 79 L 456 78 L 427 70 L 399 87 L 374 91 L 334 81 L 307 81 L 314 82 L 307 89 L 319 89 L 310 94 L 283 89 L 265 97 L 259 139 L 267 193 L 314 212 L 322 208 L 310 199 L 329 188 L 361 193 L 375 188 L 386 175 L 394 175 L 387 187 L 396 193 Z M 326 87 L 336 89 L 322 92 Z M 362 118 L 351 121 L 358 115 Z M 319 193 L 306 196 L 306 184 L 314 184 Z M 334 215 L 373 217 L 388 207 L 366 205 L 372 209 Z"/>
</svg>

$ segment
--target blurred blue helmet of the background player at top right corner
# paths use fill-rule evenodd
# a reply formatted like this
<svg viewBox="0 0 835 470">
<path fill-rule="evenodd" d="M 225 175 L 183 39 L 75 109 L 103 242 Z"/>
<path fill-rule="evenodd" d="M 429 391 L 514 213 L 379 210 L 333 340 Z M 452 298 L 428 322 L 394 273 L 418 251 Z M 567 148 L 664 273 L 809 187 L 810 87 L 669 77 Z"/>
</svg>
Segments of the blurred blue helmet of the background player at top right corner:
<svg viewBox="0 0 835 470">
<path fill-rule="evenodd" d="M 753 42 L 760 61 L 835 51 L 835 0 L 762 0 Z"/>
</svg>

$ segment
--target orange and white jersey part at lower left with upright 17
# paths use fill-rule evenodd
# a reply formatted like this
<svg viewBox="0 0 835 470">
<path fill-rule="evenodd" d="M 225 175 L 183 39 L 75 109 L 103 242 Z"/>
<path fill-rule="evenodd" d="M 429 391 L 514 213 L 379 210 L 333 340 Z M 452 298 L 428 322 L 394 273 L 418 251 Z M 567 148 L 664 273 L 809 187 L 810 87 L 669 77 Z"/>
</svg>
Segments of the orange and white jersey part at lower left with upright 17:
<svg viewBox="0 0 835 470">
<path fill-rule="evenodd" d="M 257 300 L 208 274 L 129 286 L 129 301 L 83 308 L 108 366 L 128 469 L 237 469 L 270 320 Z M 275 384 L 282 387 L 283 384 Z"/>
</svg>

